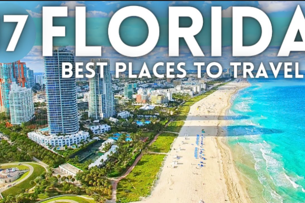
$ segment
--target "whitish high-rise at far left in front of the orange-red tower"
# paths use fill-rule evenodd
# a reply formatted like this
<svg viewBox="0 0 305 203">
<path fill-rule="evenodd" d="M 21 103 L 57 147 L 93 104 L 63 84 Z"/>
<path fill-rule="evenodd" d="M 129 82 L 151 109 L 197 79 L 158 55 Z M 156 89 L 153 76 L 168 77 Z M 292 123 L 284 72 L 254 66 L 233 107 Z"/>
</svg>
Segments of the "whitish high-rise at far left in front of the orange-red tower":
<svg viewBox="0 0 305 203">
<path fill-rule="evenodd" d="M 13 82 L 9 93 L 9 110 L 12 124 L 21 124 L 34 118 L 33 91 Z"/>
</svg>

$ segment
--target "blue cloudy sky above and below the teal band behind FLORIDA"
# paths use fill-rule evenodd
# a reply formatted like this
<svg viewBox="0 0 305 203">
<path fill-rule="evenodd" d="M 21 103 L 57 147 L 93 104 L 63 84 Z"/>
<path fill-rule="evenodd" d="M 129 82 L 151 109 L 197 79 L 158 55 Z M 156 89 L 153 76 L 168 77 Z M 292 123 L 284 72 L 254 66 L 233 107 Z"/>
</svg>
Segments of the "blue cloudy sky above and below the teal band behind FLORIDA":
<svg viewBox="0 0 305 203">
<path fill-rule="evenodd" d="M 210 16 L 211 6 L 221 6 L 223 17 L 232 16 L 232 6 L 252 6 L 263 10 L 269 17 L 287 17 L 291 18 L 297 5 L 300 5 L 302 10 L 305 9 L 304 2 L 14 2 L 25 8 L 32 17 L 40 18 L 43 6 L 67 6 L 69 10 L 69 16 L 75 15 L 75 6 L 86 6 L 87 17 L 103 17 L 110 18 L 120 8 L 126 6 L 143 6 L 153 12 L 157 17 L 168 17 L 168 6 L 192 6 L 197 8 L 203 15 L 203 17 Z M 73 47 L 70 47 L 73 49 Z M 187 47 L 180 48 L 180 57 L 169 58 L 168 47 L 156 47 L 151 53 L 141 58 L 127 58 L 118 54 L 112 47 L 103 47 L 103 58 L 110 58 L 111 67 L 114 69 L 113 64 L 118 61 L 123 62 L 134 62 L 136 69 L 140 69 L 142 63 L 145 61 L 148 64 L 153 64 L 159 61 L 184 61 L 188 64 L 194 61 L 218 61 L 225 65 L 229 64 L 230 61 L 253 61 L 253 62 L 269 62 L 269 61 L 301 61 L 304 57 L 303 53 L 295 52 L 288 58 L 276 57 L 279 47 L 269 47 L 264 53 L 251 57 L 251 58 L 233 58 L 231 56 L 232 47 L 223 48 L 222 57 L 209 57 L 210 48 L 202 47 L 202 50 L 206 57 L 198 59 L 194 58 Z M 22 61 L 27 63 L 31 69 L 35 72 L 43 72 L 43 57 L 41 53 L 41 46 L 34 46 L 32 51 Z M 86 62 L 89 58 L 78 58 L 78 61 Z M 189 66 L 188 69 L 193 67 Z M 305 69 L 304 67 L 301 67 Z"/>
</svg>

